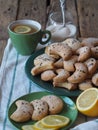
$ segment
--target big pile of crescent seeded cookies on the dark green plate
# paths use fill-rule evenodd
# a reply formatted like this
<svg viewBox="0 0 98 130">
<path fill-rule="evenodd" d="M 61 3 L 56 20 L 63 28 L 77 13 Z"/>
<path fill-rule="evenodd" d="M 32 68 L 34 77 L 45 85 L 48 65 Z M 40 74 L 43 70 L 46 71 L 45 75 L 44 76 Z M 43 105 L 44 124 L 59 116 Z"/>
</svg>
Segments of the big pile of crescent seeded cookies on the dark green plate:
<svg viewBox="0 0 98 130">
<path fill-rule="evenodd" d="M 70 91 L 98 87 L 98 38 L 51 43 L 34 59 L 31 74 Z"/>
</svg>

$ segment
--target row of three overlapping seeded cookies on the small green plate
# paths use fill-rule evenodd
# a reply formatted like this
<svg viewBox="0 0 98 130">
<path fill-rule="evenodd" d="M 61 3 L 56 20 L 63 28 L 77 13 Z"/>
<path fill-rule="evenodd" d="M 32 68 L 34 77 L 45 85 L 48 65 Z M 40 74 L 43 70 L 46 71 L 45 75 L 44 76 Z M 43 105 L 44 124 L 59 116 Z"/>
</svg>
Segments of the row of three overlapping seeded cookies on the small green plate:
<svg viewBox="0 0 98 130">
<path fill-rule="evenodd" d="M 55 95 L 46 95 L 31 102 L 18 100 L 16 106 L 17 109 L 10 118 L 15 122 L 25 122 L 30 119 L 34 121 L 41 120 L 49 114 L 60 113 L 63 110 L 64 102 Z"/>
</svg>

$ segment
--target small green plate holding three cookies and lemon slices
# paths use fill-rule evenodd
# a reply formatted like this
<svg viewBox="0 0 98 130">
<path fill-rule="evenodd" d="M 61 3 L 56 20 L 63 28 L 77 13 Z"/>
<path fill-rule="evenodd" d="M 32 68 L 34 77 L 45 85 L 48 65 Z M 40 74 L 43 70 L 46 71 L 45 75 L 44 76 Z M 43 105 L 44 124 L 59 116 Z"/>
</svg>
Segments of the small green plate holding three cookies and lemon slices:
<svg viewBox="0 0 98 130">
<path fill-rule="evenodd" d="M 34 99 L 40 99 L 42 96 L 50 95 L 50 94 L 51 93 L 49 93 L 49 92 L 34 92 L 34 93 L 24 95 L 24 96 L 18 98 L 17 100 L 22 99 L 22 100 L 26 100 L 26 101 L 30 102 L 30 101 L 32 101 Z M 63 111 L 59 115 L 67 116 L 67 117 L 70 118 L 70 123 L 66 127 L 62 128 L 61 130 L 67 130 L 75 122 L 75 120 L 77 118 L 78 111 L 76 109 L 76 106 L 75 106 L 74 102 L 70 98 L 68 98 L 66 96 L 60 96 L 60 97 L 63 99 L 65 104 L 64 104 Z M 28 121 L 28 122 L 25 122 L 25 123 L 17 123 L 17 122 L 14 122 L 14 121 L 12 121 L 10 119 L 10 115 L 16 110 L 15 102 L 16 101 L 14 101 L 12 103 L 12 105 L 10 106 L 9 111 L 8 111 L 8 117 L 9 117 L 10 122 L 18 129 L 21 129 L 21 127 L 23 125 L 34 124 L 35 121 L 32 121 L 32 120 Z"/>
</svg>

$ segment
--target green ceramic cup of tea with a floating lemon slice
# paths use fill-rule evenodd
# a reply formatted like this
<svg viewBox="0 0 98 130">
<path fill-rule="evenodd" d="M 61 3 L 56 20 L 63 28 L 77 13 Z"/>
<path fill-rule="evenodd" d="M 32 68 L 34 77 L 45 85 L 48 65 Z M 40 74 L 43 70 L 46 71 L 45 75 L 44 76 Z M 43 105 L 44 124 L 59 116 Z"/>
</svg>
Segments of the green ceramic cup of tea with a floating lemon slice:
<svg viewBox="0 0 98 130">
<path fill-rule="evenodd" d="M 15 49 L 21 55 L 32 54 L 38 45 L 46 44 L 51 33 L 48 30 L 42 30 L 41 24 L 34 20 L 16 20 L 8 25 L 8 33 Z M 47 35 L 43 41 L 43 37 Z"/>
</svg>

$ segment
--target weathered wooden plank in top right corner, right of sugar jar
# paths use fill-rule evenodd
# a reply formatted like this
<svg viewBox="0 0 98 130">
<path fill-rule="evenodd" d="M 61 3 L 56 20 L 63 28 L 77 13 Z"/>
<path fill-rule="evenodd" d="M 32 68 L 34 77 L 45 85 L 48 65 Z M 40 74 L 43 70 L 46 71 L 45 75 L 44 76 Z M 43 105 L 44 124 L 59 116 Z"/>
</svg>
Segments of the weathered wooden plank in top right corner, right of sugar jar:
<svg viewBox="0 0 98 130">
<path fill-rule="evenodd" d="M 77 0 L 80 36 L 98 37 L 98 0 Z"/>
</svg>

